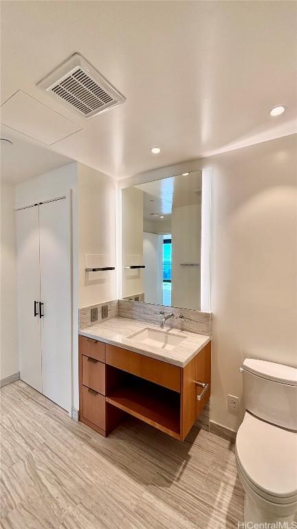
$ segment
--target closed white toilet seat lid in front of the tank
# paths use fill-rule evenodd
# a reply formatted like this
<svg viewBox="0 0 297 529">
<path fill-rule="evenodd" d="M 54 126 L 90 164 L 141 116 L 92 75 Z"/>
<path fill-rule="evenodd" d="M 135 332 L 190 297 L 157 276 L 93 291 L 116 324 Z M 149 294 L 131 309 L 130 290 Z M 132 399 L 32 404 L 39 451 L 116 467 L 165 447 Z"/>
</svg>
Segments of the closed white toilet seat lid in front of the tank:
<svg viewBox="0 0 297 529">
<path fill-rule="evenodd" d="M 247 412 L 236 436 L 236 454 L 257 489 L 276 498 L 296 497 L 297 433 Z"/>
</svg>

